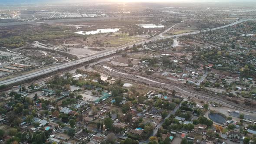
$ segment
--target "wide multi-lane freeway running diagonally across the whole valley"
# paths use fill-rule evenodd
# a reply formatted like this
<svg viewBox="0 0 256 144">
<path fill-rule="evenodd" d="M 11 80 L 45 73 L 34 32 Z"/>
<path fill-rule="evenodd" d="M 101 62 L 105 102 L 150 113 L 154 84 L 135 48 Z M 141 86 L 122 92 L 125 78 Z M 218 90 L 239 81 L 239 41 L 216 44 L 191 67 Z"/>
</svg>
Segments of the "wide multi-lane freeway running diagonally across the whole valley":
<svg viewBox="0 0 256 144">
<path fill-rule="evenodd" d="M 213 28 L 211 30 L 223 29 L 223 28 L 226 28 L 228 26 L 233 26 L 233 25 L 236 25 L 238 23 L 243 23 L 243 22 L 249 21 L 249 20 L 256 20 L 256 19 L 240 20 L 240 21 L 236 21 L 234 23 L 230 23 L 230 24 L 225 25 L 225 26 L 220 26 L 220 27 L 217 27 L 217 28 Z M 207 30 L 204 30 L 203 32 L 206 32 L 206 31 Z M 117 47 L 115 49 L 107 50 L 107 51 L 104 51 L 104 52 L 99 52 L 98 54 L 95 54 L 93 56 L 88 56 L 87 58 L 78 59 L 78 60 L 75 60 L 75 61 L 72 61 L 72 62 L 67 62 L 67 63 L 64 63 L 62 65 L 53 66 L 51 68 L 43 69 L 43 70 L 40 70 L 40 71 L 37 71 L 37 72 L 31 72 L 31 73 L 26 74 L 26 75 L 20 75 L 20 76 L 17 76 L 15 78 L 3 80 L 3 81 L 0 82 L 0 85 L 4 85 L 4 84 L 5 85 L 10 85 L 10 84 L 13 84 L 13 83 L 16 83 L 16 82 L 22 82 L 24 80 L 32 79 L 32 78 L 35 78 L 35 77 L 40 76 L 40 75 L 45 75 L 45 74 L 48 74 L 48 73 L 51 73 L 51 72 L 55 72 L 55 71 L 57 71 L 59 69 L 66 69 L 66 68 L 69 68 L 69 67 L 71 67 L 73 65 L 78 65 L 78 64 L 81 64 L 83 62 L 88 62 L 88 61 L 90 61 L 92 59 L 98 59 L 98 58 L 102 58 L 104 56 L 109 56 L 109 55 L 114 54 L 116 52 L 116 50 L 123 50 L 127 46 L 131 47 L 134 44 L 135 45 L 139 45 L 139 44 L 143 44 L 143 43 L 148 43 L 150 41 L 156 41 L 156 40 L 160 40 L 160 39 L 186 36 L 186 35 L 197 34 L 197 33 L 200 33 L 200 32 L 197 31 L 197 32 L 193 32 L 193 33 L 183 33 L 183 34 L 179 34 L 179 35 L 175 35 L 175 36 L 166 36 L 166 37 L 161 37 L 161 38 L 154 37 L 152 39 L 148 39 L 148 40 L 144 40 L 144 41 L 140 41 L 140 42 L 128 43 L 128 44 L 125 44 L 123 46 L 119 46 L 119 47 Z"/>
</svg>

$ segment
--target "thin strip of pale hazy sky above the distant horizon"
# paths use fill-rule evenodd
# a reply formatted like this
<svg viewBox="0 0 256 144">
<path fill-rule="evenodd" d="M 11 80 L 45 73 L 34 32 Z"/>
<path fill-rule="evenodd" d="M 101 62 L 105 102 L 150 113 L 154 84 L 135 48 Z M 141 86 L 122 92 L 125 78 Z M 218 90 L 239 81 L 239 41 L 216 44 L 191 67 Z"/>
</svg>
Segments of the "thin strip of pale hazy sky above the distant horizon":
<svg viewBox="0 0 256 144">
<path fill-rule="evenodd" d="M 0 0 L 0 3 L 194 3 L 255 2 L 255 0 Z"/>
</svg>

